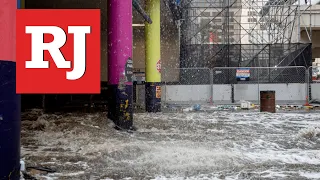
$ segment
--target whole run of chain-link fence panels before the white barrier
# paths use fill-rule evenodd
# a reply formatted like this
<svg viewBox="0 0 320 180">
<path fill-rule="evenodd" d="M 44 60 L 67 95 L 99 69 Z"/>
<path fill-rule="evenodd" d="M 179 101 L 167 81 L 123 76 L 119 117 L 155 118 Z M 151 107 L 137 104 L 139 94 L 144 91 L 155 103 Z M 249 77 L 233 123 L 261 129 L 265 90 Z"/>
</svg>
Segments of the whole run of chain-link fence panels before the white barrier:
<svg viewBox="0 0 320 180">
<path fill-rule="evenodd" d="M 259 104 L 260 91 L 275 91 L 276 104 L 302 105 L 309 94 L 304 66 L 175 68 L 162 73 L 163 104 Z"/>
</svg>

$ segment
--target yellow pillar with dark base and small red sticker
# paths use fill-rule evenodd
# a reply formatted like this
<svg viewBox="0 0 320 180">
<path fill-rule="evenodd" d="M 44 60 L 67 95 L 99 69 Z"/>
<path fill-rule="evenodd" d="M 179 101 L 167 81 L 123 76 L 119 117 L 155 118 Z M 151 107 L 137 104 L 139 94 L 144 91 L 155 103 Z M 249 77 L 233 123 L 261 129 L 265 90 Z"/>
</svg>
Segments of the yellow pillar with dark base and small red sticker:
<svg viewBox="0 0 320 180">
<path fill-rule="evenodd" d="M 160 2 L 146 0 L 146 12 L 152 24 L 145 26 L 146 111 L 161 111 Z"/>
</svg>

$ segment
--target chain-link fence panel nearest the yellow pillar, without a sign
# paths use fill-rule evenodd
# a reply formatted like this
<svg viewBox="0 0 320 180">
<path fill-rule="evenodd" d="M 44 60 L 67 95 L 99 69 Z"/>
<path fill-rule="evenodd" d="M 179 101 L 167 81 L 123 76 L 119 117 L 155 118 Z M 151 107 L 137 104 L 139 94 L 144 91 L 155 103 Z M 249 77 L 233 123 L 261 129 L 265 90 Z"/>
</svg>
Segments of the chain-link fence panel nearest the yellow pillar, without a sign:
<svg viewBox="0 0 320 180">
<path fill-rule="evenodd" d="M 165 68 L 162 104 L 205 104 L 211 98 L 211 69 Z"/>
</svg>

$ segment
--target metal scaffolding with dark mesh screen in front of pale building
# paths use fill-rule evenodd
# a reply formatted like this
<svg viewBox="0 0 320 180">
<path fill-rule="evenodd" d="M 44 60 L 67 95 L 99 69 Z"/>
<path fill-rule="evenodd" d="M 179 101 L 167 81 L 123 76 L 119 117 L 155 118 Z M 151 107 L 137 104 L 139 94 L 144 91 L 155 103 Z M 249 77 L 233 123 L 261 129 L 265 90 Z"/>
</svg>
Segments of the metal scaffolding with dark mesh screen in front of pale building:
<svg viewBox="0 0 320 180">
<path fill-rule="evenodd" d="M 177 2 L 169 7 L 180 28 L 181 68 L 312 64 L 311 22 L 300 18 L 311 17 L 310 0 Z M 301 23 L 309 42 L 300 41 Z"/>
</svg>

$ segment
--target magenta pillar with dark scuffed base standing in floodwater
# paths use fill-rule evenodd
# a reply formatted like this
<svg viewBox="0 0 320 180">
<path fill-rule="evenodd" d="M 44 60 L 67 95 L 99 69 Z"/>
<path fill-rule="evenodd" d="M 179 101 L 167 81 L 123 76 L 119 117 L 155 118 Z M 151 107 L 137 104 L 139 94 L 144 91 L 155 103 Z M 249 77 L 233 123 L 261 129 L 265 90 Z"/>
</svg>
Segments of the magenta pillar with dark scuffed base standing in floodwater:
<svg viewBox="0 0 320 180">
<path fill-rule="evenodd" d="M 132 0 L 108 0 L 108 118 L 132 129 Z"/>
</svg>

